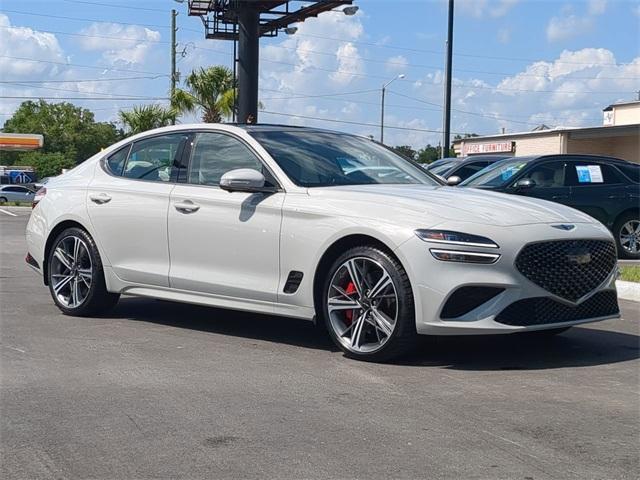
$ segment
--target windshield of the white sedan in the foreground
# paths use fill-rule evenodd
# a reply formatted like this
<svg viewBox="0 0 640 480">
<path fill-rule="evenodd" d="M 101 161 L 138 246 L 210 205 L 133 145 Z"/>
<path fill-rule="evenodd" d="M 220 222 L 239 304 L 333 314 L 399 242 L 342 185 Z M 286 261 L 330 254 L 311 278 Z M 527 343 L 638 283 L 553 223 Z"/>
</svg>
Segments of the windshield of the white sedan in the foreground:
<svg viewBox="0 0 640 480">
<path fill-rule="evenodd" d="M 371 140 L 313 130 L 249 132 L 301 187 L 440 185 L 417 164 Z"/>
</svg>

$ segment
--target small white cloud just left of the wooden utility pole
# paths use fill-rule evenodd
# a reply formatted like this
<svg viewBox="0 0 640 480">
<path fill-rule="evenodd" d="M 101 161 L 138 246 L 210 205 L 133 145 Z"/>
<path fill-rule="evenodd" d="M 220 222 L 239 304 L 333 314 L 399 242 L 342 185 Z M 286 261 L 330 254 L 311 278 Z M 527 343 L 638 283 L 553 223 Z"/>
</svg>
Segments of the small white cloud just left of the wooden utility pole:
<svg viewBox="0 0 640 480">
<path fill-rule="evenodd" d="M 160 32 L 138 25 L 92 23 L 80 33 L 89 35 L 82 37 L 80 47 L 87 51 L 102 52 L 102 57 L 112 65 L 144 63 L 149 51 L 160 40 Z"/>
</svg>

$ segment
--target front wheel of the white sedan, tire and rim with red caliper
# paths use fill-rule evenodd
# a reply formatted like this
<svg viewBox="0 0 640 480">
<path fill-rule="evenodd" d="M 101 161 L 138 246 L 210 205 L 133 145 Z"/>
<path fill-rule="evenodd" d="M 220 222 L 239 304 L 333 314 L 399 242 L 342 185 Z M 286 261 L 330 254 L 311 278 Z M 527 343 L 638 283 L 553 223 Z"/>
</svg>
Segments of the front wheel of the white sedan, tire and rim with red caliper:
<svg viewBox="0 0 640 480">
<path fill-rule="evenodd" d="M 413 292 L 407 273 L 375 247 L 355 247 L 333 263 L 323 288 L 327 330 L 349 357 L 385 361 L 417 343 Z"/>
</svg>

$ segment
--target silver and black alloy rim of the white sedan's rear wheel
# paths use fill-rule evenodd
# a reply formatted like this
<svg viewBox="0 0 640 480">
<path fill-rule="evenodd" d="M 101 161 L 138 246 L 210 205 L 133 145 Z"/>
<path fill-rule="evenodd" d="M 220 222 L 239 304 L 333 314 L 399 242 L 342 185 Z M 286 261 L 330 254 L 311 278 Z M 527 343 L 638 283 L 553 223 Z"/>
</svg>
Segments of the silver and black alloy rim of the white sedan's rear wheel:
<svg viewBox="0 0 640 480">
<path fill-rule="evenodd" d="M 73 235 L 62 238 L 53 250 L 50 269 L 58 301 L 67 308 L 82 305 L 93 281 L 93 264 L 84 240 Z"/>
</svg>

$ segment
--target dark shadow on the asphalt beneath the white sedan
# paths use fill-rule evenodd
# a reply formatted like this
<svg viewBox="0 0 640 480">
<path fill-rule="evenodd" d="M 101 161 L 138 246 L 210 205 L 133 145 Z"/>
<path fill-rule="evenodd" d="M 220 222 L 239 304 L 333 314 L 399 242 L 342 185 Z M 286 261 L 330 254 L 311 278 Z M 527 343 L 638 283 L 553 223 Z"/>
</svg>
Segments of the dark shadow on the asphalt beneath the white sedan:
<svg viewBox="0 0 640 480">
<path fill-rule="evenodd" d="M 108 315 L 301 348 L 338 351 L 326 332 L 304 320 L 183 303 L 123 298 Z M 640 336 L 574 327 L 555 337 L 522 334 L 424 337 L 394 365 L 459 370 L 543 370 L 606 365 L 640 358 Z"/>
</svg>

